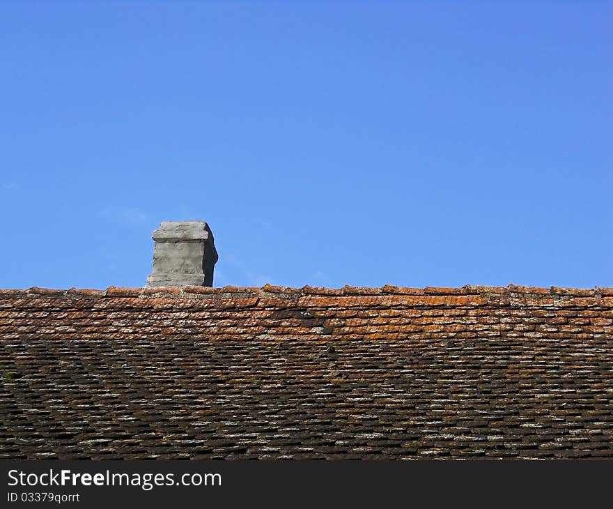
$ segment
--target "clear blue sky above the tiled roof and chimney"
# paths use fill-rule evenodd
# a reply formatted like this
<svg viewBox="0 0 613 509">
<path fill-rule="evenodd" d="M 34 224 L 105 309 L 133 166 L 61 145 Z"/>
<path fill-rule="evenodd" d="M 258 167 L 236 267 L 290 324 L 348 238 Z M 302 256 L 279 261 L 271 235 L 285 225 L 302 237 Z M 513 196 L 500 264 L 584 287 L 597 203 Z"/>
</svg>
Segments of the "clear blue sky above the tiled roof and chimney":
<svg viewBox="0 0 613 509">
<path fill-rule="evenodd" d="M 612 3 L 0 2 L 0 287 L 613 286 Z"/>
</svg>

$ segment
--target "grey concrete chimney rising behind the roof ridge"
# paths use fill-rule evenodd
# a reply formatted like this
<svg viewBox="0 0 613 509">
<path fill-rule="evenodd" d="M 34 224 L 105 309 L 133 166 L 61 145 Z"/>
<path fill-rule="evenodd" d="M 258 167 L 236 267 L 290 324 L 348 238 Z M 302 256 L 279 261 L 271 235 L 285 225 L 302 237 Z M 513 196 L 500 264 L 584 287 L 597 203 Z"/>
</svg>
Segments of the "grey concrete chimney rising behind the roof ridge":
<svg viewBox="0 0 613 509">
<path fill-rule="evenodd" d="M 153 272 L 147 287 L 212 287 L 217 250 L 204 221 L 164 221 L 153 232 Z"/>
</svg>

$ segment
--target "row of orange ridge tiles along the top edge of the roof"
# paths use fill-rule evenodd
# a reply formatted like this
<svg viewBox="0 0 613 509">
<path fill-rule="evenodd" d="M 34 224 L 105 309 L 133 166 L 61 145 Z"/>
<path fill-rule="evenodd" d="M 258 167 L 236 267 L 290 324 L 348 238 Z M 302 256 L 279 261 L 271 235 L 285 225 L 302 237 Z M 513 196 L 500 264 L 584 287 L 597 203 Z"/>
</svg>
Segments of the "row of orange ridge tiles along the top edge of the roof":
<svg viewBox="0 0 613 509">
<path fill-rule="evenodd" d="M 509 284 L 506 287 L 473 286 L 464 287 L 424 287 L 411 288 L 385 284 L 383 287 L 352 287 L 346 285 L 342 288 L 311 287 L 306 285 L 302 288 L 281 287 L 265 284 L 263 287 L 108 287 L 107 289 L 77 289 L 70 288 L 48 289 L 31 287 L 29 289 L 0 289 L 0 297 L 20 298 L 26 296 L 47 296 L 55 298 L 245 298 L 245 297 L 275 297 L 297 298 L 300 296 L 380 296 L 380 295 L 409 295 L 409 296 L 463 296 L 463 295 L 509 295 L 523 294 L 531 298 L 552 296 L 574 297 L 601 297 L 613 296 L 613 287 L 587 288 L 564 288 L 564 287 L 527 287 Z"/>
</svg>

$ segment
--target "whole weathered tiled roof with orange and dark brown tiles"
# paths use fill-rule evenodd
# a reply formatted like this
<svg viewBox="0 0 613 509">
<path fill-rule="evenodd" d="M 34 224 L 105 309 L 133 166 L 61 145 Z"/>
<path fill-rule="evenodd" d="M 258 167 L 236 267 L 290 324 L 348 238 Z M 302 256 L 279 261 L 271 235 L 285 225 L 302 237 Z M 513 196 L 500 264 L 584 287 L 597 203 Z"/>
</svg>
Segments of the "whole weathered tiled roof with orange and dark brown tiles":
<svg viewBox="0 0 613 509">
<path fill-rule="evenodd" d="M 0 457 L 613 458 L 613 289 L 0 290 Z"/>
</svg>

